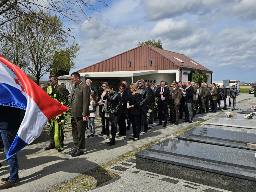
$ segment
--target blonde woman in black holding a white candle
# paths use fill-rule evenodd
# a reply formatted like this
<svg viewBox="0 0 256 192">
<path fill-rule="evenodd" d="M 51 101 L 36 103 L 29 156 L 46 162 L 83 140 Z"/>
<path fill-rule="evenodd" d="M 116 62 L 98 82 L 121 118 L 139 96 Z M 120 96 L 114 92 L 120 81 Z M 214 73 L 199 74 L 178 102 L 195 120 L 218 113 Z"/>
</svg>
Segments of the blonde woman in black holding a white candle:
<svg viewBox="0 0 256 192">
<path fill-rule="evenodd" d="M 132 94 L 129 96 L 129 106 L 127 108 L 129 109 L 129 119 L 132 123 L 132 131 L 133 136 L 129 139 L 132 139 L 134 141 L 139 140 L 140 137 L 140 101 L 141 101 L 141 94 L 137 89 L 137 85 L 135 83 L 132 83 L 130 85 L 130 90 Z"/>
</svg>

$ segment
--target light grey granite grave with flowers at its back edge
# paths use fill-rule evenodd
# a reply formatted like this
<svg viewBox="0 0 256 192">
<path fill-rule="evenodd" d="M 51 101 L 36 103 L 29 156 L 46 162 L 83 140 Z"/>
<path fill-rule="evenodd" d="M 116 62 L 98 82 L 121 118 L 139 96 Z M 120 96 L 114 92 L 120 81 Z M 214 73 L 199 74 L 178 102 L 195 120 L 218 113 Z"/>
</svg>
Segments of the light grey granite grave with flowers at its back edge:
<svg viewBox="0 0 256 192">
<path fill-rule="evenodd" d="M 203 122 L 204 127 L 214 129 L 232 130 L 246 133 L 256 133 L 256 117 L 244 119 L 244 114 L 234 113 L 227 117 L 225 113 Z"/>
</svg>

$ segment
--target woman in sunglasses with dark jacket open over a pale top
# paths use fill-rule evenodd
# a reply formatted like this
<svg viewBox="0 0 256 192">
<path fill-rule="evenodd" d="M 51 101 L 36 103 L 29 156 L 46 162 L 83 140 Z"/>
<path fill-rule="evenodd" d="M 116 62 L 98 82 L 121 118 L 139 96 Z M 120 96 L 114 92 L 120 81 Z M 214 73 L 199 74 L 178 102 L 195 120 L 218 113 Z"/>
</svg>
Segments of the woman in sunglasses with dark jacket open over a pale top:
<svg viewBox="0 0 256 192">
<path fill-rule="evenodd" d="M 107 82 L 104 82 L 102 83 L 102 91 L 101 93 L 99 94 L 99 97 L 98 97 L 98 101 L 101 99 L 101 102 L 99 101 L 98 104 L 99 104 L 99 115 L 101 116 L 101 125 L 102 125 L 102 132 L 101 133 L 105 133 L 106 134 L 106 139 L 110 140 L 110 137 L 109 137 L 109 118 L 106 118 L 106 121 L 105 121 L 105 111 L 103 110 L 103 106 L 104 106 L 104 103 L 106 101 L 106 98 L 107 98 L 107 91 L 106 91 L 106 86 L 108 85 Z M 105 128 L 105 123 L 106 123 L 106 128 Z"/>
</svg>

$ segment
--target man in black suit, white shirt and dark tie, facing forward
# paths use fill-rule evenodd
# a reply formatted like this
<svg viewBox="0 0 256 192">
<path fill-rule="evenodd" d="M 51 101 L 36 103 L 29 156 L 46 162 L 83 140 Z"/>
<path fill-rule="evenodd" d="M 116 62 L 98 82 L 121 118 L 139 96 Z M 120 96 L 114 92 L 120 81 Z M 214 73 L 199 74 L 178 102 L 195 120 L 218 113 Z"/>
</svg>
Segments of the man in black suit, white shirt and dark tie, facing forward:
<svg viewBox="0 0 256 192">
<path fill-rule="evenodd" d="M 168 113 L 168 99 L 171 97 L 170 90 L 167 87 L 164 87 L 165 82 L 160 82 L 161 87 L 157 88 L 157 92 L 155 96 L 157 97 L 158 103 L 158 116 L 159 116 L 159 123 L 157 125 L 162 125 L 164 119 L 164 127 L 167 124 L 167 113 Z M 163 112 L 164 111 L 164 115 Z"/>
</svg>

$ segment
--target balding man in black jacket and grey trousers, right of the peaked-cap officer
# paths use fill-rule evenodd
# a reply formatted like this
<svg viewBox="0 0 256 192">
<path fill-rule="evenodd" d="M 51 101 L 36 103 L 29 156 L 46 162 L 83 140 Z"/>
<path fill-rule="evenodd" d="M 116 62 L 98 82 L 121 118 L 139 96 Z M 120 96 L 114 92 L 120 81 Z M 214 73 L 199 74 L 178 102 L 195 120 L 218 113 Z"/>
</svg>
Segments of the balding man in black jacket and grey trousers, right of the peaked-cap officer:
<svg viewBox="0 0 256 192">
<path fill-rule="evenodd" d="M 183 95 L 185 97 L 185 103 L 186 103 L 186 110 L 187 110 L 187 117 L 183 122 L 193 123 L 193 95 L 194 95 L 194 89 L 190 84 L 190 81 L 186 82 L 186 95 Z"/>
</svg>

